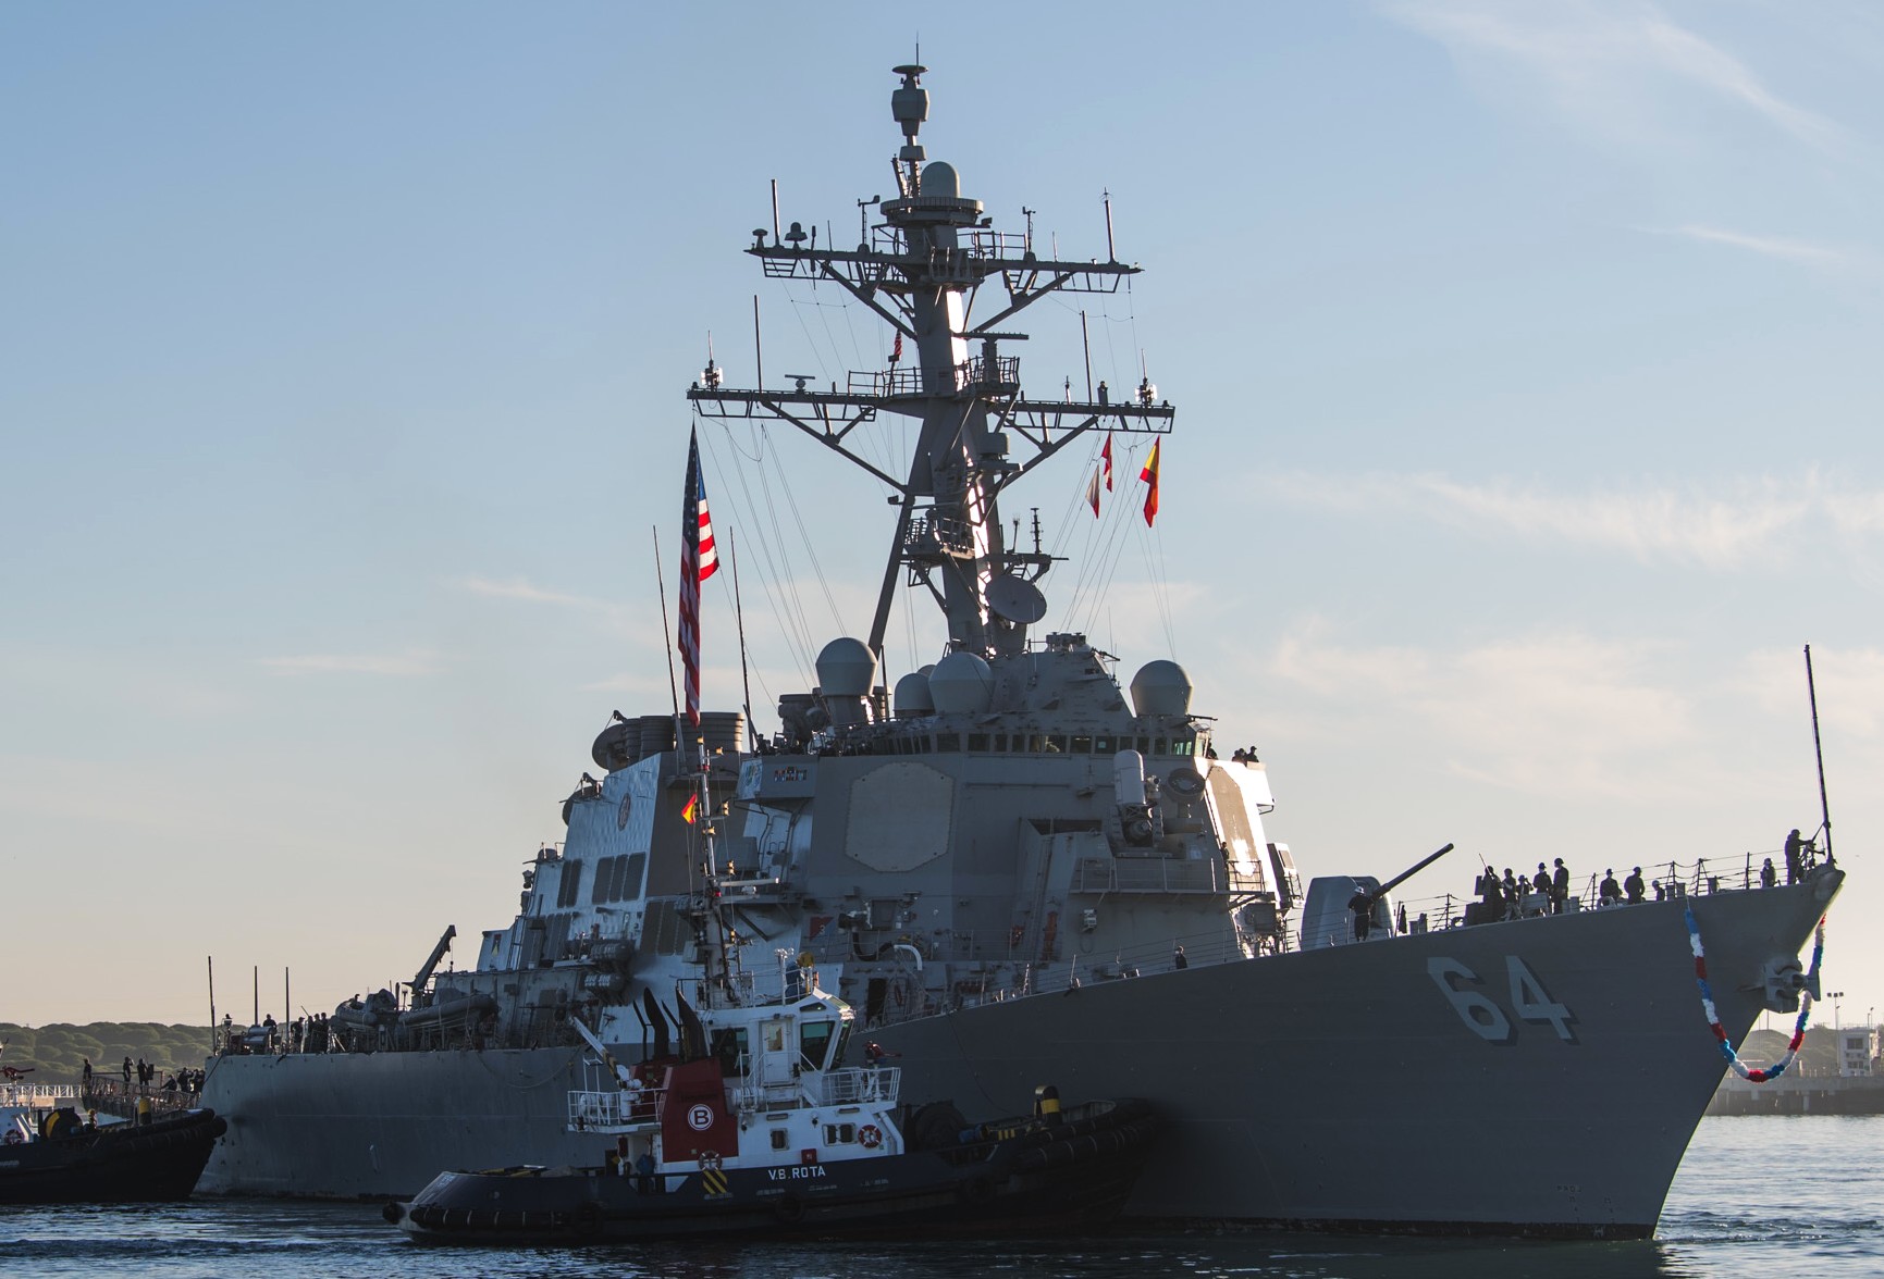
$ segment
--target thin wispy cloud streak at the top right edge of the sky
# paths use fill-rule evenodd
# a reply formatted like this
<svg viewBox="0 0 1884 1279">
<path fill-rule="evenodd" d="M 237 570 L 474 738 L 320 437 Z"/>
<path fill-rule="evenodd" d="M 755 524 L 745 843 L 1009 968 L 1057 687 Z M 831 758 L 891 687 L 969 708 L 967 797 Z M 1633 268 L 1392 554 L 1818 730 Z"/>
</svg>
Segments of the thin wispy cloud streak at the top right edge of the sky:
<svg viewBox="0 0 1884 1279">
<path fill-rule="evenodd" d="M 1843 139 L 1837 124 L 1773 92 L 1741 58 L 1652 4 L 1389 0 L 1381 9 L 1458 58 L 1513 66 L 1566 117 L 1605 134 L 1639 138 L 1664 115 L 1654 109 L 1660 96 L 1688 90 L 1735 104 L 1820 151 Z"/>
</svg>

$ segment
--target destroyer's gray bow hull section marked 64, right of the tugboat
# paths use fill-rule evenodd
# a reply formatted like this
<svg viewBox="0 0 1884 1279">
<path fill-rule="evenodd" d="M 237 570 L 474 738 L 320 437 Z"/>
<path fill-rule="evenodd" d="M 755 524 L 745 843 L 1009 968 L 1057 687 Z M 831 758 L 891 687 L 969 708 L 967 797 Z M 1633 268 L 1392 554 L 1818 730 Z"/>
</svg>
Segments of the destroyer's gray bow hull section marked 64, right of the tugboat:
<svg viewBox="0 0 1884 1279">
<path fill-rule="evenodd" d="M 1735 1042 L 1762 1012 L 1739 987 L 1822 912 L 1805 885 L 1696 902 Z M 1511 957 L 1567 1040 L 1515 1012 Z M 1454 981 L 1509 1034 L 1466 1025 L 1436 963 L 1483 978 Z M 1155 1098 L 1168 1128 L 1134 1215 L 1324 1228 L 1647 1236 L 1724 1070 L 1679 902 L 1108 981 L 878 1038 L 912 1096 L 953 1085 L 968 1113 L 1046 1081 Z"/>
</svg>

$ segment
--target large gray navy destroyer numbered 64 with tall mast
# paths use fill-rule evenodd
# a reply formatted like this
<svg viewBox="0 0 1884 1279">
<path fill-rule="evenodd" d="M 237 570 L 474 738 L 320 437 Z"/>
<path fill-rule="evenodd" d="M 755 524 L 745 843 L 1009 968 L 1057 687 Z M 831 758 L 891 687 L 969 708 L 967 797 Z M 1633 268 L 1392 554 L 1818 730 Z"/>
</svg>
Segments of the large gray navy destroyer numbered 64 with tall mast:
<svg viewBox="0 0 1884 1279">
<path fill-rule="evenodd" d="M 887 486 L 870 633 L 833 639 L 769 735 L 744 712 L 695 721 L 697 676 L 686 712 L 616 714 L 592 748 L 603 776 L 584 774 L 567 838 L 535 853 L 473 968 L 439 972 L 448 929 L 401 989 L 288 1051 L 211 1062 L 203 1100 L 230 1132 L 203 1189 L 405 1198 L 448 1168 L 592 1164 L 565 1109 L 575 1023 L 633 1055 L 705 949 L 733 944 L 816 968 L 901 1055 L 906 1093 L 970 1121 L 1025 1111 L 1040 1079 L 1147 1098 L 1164 1140 L 1129 1204 L 1142 1217 L 1652 1232 L 1722 1044 L 1799 1008 L 1799 951 L 1843 872 L 1803 865 L 1754 891 L 1669 874 L 1658 900 L 1558 895 L 1470 919 L 1407 917 L 1398 880 L 1304 891 L 1264 831 L 1264 765 L 1219 759 L 1178 663 L 1121 682 L 1085 635 L 1038 633 L 1055 559 L 1000 518 L 1068 446 L 1110 465 L 1100 439 L 1172 428 L 1149 380 L 1036 399 L 1014 354 L 1031 303 L 1113 292 L 1138 267 L 997 230 L 918 141 L 923 68 L 897 75 L 897 188 L 859 202 L 857 245 L 774 217 L 746 247 L 767 277 L 848 290 L 893 330 L 889 367 L 740 390 L 708 360 L 688 392 L 714 429 L 789 424 Z M 853 446 L 878 418 L 912 428 L 893 467 Z M 1153 460 L 1151 503 L 1155 477 Z M 684 529 L 682 629 L 712 571 L 697 461 Z M 948 640 L 891 682 L 904 590 L 940 607 Z M 710 936 L 727 899 L 733 936 Z"/>
</svg>

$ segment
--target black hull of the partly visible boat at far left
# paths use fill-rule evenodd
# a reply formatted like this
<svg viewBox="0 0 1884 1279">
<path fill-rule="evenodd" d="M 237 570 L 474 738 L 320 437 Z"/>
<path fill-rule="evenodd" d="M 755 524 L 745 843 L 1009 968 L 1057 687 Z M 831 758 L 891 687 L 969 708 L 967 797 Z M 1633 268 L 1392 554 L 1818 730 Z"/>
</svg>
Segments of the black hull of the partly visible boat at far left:
<svg viewBox="0 0 1884 1279">
<path fill-rule="evenodd" d="M 98 1126 L 72 1106 L 0 1108 L 0 1204 L 183 1200 L 228 1130 L 213 1109 Z"/>
</svg>

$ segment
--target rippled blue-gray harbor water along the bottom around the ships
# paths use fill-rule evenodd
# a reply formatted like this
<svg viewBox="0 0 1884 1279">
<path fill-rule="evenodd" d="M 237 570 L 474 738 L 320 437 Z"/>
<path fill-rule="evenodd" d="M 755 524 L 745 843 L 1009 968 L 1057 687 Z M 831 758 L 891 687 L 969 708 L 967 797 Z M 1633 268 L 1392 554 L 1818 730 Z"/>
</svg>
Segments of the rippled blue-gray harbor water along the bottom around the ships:
<svg viewBox="0 0 1884 1279">
<path fill-rule="evenodd" d="M 1524 1140 L 1522 1119 L 1513 1121 L 1511 1140 Z M 1707 1119 L 1675 1177 L 1656 1238 L 1633 1243 L 1383 1239 L 1127 1224 L 1076 1239 L 424 1249 L 384 1224 L 373 1204 L 190 1200 L 143 1207 L 0 1207 L 0 1271 L 9 1279 L 130 1270 L 151 1279 L 1876 1275 L 1884 1273 L 1880 1141 L 1880 1117 Z"/>
</svg>

